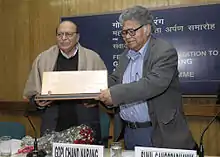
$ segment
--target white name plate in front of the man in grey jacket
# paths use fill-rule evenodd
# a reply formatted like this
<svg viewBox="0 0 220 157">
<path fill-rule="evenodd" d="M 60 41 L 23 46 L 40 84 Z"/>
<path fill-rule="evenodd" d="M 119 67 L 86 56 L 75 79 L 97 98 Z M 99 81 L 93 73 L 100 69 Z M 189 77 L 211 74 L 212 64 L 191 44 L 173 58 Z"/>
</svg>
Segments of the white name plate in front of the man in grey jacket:
<svg viewBox="0 0 220 157">
<path fill-rule="evenodd" d="M 194 150 L 135 147 L 135 157 L 197 157 Z"/>
</svg>

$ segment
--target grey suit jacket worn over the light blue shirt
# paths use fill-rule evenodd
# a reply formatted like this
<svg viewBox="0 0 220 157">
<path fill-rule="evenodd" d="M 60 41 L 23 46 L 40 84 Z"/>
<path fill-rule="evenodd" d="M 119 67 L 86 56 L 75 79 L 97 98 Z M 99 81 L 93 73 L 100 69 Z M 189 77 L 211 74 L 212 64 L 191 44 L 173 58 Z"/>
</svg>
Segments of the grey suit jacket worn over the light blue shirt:
<svg viewBox="0 0 220 157">
<path fill-rule="evenodd" d="M 139 100 L 147 101 L 153 126 L 153 146 L 192 149 L 195 142 L 183 113 L 176 49 L 152 36 L 144 58 L 143 78 L 121 84 L 129 62 L 127 51 L 122 53 L 117 69 L 109 76 L 113 104 L 117 107 Z M 116 114 L 115 140 L 122 130 L 121 122 L 119 114 Z"/>
</svg>

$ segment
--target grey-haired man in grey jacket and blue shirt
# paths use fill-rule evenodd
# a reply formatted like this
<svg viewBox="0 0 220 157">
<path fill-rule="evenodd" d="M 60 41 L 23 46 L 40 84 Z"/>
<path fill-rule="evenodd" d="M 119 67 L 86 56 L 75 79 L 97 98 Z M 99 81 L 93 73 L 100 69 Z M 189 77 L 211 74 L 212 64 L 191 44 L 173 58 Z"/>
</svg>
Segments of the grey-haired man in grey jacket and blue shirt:
<svg viewBox="0 0 220 157">
<path fill-rule="evenodd" d="M 126 149 L 194 149 L 196 143 L 183 113 L 176 49 L 152 36 L 153 17 L 144 7 L 123 11 L 119 21 L 127 50 L 109 76 L 110 88 L 97 97 L 106 106 L 119 108 L 115 123 L 122 123 L 115 139 L 124 130 Z"/>
</svg>

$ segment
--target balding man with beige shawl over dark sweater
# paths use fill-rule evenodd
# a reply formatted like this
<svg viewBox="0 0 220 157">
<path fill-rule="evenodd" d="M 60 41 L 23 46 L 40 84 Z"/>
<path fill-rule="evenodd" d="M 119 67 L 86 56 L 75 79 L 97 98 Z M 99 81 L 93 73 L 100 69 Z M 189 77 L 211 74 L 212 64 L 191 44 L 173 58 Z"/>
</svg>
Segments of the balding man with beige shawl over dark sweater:
<svg viewBox="0 0 220 157">
<path fill-rule="evenodd" d="M 79 31 L 71 21 L 63 21 L 56 29 L 57 44 L 40 53 L 35 59 L 24 89 L 24 97 L 43 111 L 41 135 L 47 129 L 62 131 L 80 124 L 90 125 L 101 138 L 99 107 L 82 105 L 81 101 L 34 101 L 40 93 L 44 71 L 105 70 L 100 56 L 79 44 Z M 71 80 L 70 80 L 71 81 Z"/>
</svg>

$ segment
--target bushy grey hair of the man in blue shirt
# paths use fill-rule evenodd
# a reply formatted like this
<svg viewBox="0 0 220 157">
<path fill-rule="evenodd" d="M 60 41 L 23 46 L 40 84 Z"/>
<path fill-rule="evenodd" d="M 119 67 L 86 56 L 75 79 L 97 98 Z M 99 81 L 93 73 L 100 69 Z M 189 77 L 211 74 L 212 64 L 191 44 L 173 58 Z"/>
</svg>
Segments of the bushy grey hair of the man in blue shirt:
<svg viewBox="0 0 220 157">
<path fill-rule="evenodd" d="M 156 29 L 153 15 L 147 8 L 142 6 L 134 6 L 124 10 L 119 16 L 119 22 L 123 24 L 127 20 L 137 21 L 140 25 L 150 24 L 152 32 Z"/>
</svg>

